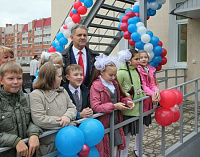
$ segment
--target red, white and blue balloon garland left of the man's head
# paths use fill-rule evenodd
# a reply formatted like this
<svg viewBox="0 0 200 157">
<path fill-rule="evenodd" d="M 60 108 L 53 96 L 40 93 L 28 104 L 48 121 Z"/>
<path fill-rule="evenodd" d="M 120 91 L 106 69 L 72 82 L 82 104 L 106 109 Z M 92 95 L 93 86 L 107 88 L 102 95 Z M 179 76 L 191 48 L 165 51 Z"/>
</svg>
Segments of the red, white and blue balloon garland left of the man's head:
<svg viewBox="0 0 200 157">
<path fill-rule="evenodd" d="M 61 52 L 64 50 L 71 35 L 72 27 L 81 21 L 81 15 L 85 15 L 87 9 L 92 5 L 93 0 L 79 0 L 74 3 L 73 10 L 70 11 L 69 17 L 66 18 L 64 25 L 61 26 L 60 32 L 56 35 L 56 39 L 52 42 L 52 46 L 48 50 L 49 52 Z"/>
</svg>

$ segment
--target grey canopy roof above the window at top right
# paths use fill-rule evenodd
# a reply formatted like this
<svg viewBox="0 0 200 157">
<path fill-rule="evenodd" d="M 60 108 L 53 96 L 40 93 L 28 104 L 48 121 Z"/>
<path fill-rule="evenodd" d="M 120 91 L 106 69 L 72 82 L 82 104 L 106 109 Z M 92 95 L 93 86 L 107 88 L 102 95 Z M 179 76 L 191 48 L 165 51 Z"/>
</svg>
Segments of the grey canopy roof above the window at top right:
<svg viewBox="0 0 200 157">
<path fill-rule="evenodd" d="M 200 0 L 187 0 L 170 14 L 188 18 L 200 18 Z"/>
</svg>

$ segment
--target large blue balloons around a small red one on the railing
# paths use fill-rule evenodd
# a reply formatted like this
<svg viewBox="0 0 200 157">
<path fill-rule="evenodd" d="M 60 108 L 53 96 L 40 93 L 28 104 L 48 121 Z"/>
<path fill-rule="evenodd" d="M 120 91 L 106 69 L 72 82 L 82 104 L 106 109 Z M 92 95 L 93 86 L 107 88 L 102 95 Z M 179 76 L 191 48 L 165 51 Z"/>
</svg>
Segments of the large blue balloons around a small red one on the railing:
<svg viewBox="0 0 200 157">
<path fill-rule="evenodd" d="M 96 119 L 88 119 L 79 125 L 62 128 L 56 135 L 58 157 L 99 157 L 94 147 L 104 137 L 104 126 Z"/>
</svg>

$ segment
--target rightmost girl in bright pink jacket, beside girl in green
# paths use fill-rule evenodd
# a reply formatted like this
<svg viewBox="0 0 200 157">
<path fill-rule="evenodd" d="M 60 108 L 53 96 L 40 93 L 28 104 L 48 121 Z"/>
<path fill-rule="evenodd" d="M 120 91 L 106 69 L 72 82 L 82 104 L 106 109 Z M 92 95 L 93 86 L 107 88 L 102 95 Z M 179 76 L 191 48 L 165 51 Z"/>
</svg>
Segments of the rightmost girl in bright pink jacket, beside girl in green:
<svg viewBox="0 0 200 157">
<path fill-rule="evenodd" d="M 146 112 L 152 109 L 152 101 L 154 104 L 158 104 L 160 101 L 160 94 L 154 75 L 156 69 L 148 64 L 149 56 L 146 51 L 142 50 L 139 52 L 139 54 L 140 65 L 137 68 L 141 76 L 142 88 L 146 95 L 151 96 L 151 98 L 144 100 L 143 108 L 144 112 Z"/>
</svg>

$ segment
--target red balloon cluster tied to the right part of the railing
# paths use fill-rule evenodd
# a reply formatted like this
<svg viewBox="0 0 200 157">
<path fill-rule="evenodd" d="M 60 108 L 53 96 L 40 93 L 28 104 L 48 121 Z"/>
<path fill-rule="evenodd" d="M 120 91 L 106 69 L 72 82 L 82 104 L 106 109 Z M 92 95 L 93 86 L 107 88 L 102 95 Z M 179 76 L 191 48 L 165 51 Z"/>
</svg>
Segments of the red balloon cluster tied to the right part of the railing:
<svg viewBox="0 0 200 157">
<path fill-rule="evenodd" d="M 180 118 L 179 105 L 183 101 L 182 93 L 177 89 L 166 89 L 160 93 L 160 104 L 155 113 L 155 119 L 161 126 L 168 126 Z"/>
</svg>

